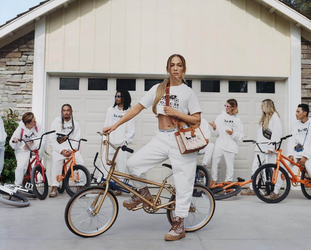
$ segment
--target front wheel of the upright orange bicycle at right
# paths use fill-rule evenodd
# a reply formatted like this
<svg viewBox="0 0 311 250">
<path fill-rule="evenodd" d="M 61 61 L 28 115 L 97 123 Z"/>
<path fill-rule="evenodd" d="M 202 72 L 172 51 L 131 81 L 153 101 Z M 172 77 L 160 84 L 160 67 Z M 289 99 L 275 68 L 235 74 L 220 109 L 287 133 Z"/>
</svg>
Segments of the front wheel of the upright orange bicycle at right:
<svg viewBox="0 0 311 250">
<path fill-rule="evenodd" d="M 290 177 L 283 167 L 279 168 L 276 184 L 272 184 L 272 174 L 276 170 L 276 164 L 264 164 L 253 174 L 252 185 L 254 193 L 259 199 L 267 203 L 278 203 L 286 198 L 290 192 Z M 268 199 L 272 192 L 278 192 L 277 197 Z"/>
</svg>

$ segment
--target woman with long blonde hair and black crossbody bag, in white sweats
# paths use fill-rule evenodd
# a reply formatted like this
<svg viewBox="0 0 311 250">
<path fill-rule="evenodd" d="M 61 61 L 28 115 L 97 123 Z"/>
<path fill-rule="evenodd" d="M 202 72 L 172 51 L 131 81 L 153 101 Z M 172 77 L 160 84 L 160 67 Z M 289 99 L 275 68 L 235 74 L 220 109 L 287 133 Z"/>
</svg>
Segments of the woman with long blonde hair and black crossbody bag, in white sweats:
<svg viewBox="0 0 311 250">
<path fill-rule="evenodd" d="M 270 143 L 274 141 L 276 142 L 280 141 L 280 138 L 282 136 L 282 124 L 280 115 L 279 113 L 277 113 L 273 101 L 270 99 L 263 100 L 261 103 L 261 109 L 262 109 L 262 116 L 259 120 L 259 127 L 256 141 L 259 143 L 264 143 L 260 144 L 259 146 L 263 152 L 266 152 L 268 162 L 266 162 L 265 154 L 262 153 L 259 150 L 258 146 L 256 145 L 252 166 L 252 175 L 254 174 L 259 165 L 257 155 L 259 155 L 262 164 L 276 163 L 276 151 L 274 145 Z M 281 179 L 278 178 L 278 180 Z M 252 183 L 250 183 L 249 187 L 245 191 L 241 192 L 241 195 L 255 195 Z M 269 198 L 270 195 L 267 196 L 267 198 Z"/>
</svg>

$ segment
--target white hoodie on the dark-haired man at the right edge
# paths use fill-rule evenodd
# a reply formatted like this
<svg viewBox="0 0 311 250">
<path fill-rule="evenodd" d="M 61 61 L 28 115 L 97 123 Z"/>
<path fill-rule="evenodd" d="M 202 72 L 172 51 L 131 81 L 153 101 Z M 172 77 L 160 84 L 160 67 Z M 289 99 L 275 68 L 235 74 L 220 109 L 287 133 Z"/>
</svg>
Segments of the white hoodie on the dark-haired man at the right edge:
<svg viewBox="0 0 311 250">
<path fill-rule="evenodd" d="M 310 126 L 309 126 L 310 124 Z M 309 126 L 309 130 L 308 130 Z M 306 136 L 306 133 L 308 131 L 308 134 Z M 311 121 L 308 119 L 305 123 L 302 123 L 300 120 L 298 123 L 296 123 L 292 128 L 292 137 L 288 138 L 288 152 L 287 156 L 294 156 L 295 158 L 301 158 L 306 157 L 309 159 L 311 157 Z M 304 138 L 306 138 L 306 141 L 304 142 Z M 303 145 L 304 149 L 301 152 L 295 151 L 295 146 L 297 144 Z"/>
</svg>

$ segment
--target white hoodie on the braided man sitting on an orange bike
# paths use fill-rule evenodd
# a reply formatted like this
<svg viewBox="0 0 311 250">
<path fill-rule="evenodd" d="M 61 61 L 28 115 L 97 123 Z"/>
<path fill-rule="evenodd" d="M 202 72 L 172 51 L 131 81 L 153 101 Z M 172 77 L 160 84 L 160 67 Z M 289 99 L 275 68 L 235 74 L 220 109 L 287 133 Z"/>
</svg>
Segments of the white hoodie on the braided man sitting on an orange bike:
<svg viewBox="0 0 311 250">
<path fill-rule="evenodd" d="M 77 121 L 73 121 L 75 129 L 73 130 L 73 132 L 69 135 L 69 138 L 72 138 L 74 140 L 79 141 L 80 135 L 81 135 L 81 131 L 80 131 L 80 124 Z M 62 129 L 62 117 L 58 116 L 54 119 L 54 121 L 52 122 L 51 125 L 51 131 L 55 130 L 55 133 L 52 133 L 49 135 L 49 141 L 50 141 L 50 146 L 52 148 L 52 150 L 58 152 L 59 154 L 63 151 L 63 150 L 72 150 L 68 140 L 64 141 L 63 143 L 59 144 L 56 141 L 56 138 L 58 135 L 56 135 L 56 133 L 59 134 L 64 134 L 64 135 L 68 135 L 71 131 L 72 131 L 72 119 L 70 119 L 70 121 L 66 122 L 64 121 L 64 128 Z M 78 149 L 78 145 L 79 143 L 76 141 L 70 141 L 72 148 L 73 149 Z M 78 153 L 78 152 L 77 152 Z M 77 157 L 77 153 L 76 153 L 76 157 Z"/>
</svg>

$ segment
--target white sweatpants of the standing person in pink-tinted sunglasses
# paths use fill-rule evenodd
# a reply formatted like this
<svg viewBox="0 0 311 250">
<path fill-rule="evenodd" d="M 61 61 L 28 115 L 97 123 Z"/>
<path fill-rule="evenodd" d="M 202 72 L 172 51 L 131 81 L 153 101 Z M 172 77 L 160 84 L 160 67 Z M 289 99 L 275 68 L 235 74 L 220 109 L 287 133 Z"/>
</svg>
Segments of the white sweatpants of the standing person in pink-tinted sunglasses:
<svg viewBox="0 0 311 250">
<path fill-rule="evenodd" d="M 220 147 L 217 147 L 217 146 L 215 147 L 214 153 L 212 156 L 212 168 L 211 168 L 212 180 L 217 181 L 218 163 L 220 162 L 221 156 L 224 156 L 226 167 L 227 167 L 225 181 L 232 181 L 235 154 L 222 150 Z"/>
</svg>

